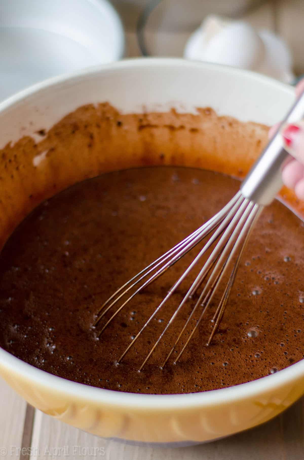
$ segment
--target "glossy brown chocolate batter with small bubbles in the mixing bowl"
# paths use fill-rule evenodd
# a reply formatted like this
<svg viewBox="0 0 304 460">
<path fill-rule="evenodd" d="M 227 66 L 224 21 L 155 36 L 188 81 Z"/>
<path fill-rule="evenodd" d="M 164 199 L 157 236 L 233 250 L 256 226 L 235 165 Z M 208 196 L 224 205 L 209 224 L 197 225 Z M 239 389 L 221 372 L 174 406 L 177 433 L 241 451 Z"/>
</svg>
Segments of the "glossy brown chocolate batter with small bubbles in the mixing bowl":
<svg viewBox="0 0 304 460">
<path fill-rule="evenodd" d="M 238 189 L 237 180 L 220 173 L 148 167 L 103 174 L 45 201 L 0 255 L 0 345 L 51 374 L 139 393 L 237 385 L 299 361 L 304 357 L 304 229 L 277 201 L 253 231 L 212 345 L 205 343 L 221 293 L 176 365 L 171 357 L 159 368 L 195 299 L 137 372 L 193 273 L 115 364 L 200 247 L 136 296 L 100 339 L 102 325 L 92 328 L 113 291 L 219 211 Z"/>
</svg>

